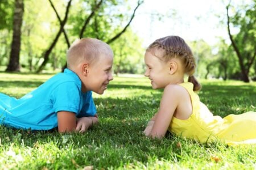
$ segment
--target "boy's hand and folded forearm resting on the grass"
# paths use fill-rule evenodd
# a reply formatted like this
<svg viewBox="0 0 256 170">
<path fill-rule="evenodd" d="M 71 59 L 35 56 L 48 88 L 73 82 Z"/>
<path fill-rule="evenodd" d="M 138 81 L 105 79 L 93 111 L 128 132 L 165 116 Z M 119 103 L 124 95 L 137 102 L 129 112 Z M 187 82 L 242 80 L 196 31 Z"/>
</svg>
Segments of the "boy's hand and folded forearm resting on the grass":
<svg viewBox="0 0 256 170">
<path fill-rule="evenodd" d="M 93 124 L 97 124 L 97 117 L 81 117 L 77 119 L 76 123 L 76 131 L 85 132 L 92 126 Z"/>
</svg>

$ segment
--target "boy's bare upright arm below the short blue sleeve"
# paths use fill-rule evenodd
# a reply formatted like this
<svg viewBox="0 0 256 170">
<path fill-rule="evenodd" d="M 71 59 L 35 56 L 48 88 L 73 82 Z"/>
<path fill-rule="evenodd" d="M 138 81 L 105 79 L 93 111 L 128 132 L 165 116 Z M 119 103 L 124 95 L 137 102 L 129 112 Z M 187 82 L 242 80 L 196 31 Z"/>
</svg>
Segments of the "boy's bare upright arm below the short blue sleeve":
<svg viewBox="0 0 256 170">
<path fill-rule="evenodd" d="M 58 131 L 60 133 L 73 131 L 76 129 L 76 114 L 73 112 L 57 112 Z"/>
</svg>

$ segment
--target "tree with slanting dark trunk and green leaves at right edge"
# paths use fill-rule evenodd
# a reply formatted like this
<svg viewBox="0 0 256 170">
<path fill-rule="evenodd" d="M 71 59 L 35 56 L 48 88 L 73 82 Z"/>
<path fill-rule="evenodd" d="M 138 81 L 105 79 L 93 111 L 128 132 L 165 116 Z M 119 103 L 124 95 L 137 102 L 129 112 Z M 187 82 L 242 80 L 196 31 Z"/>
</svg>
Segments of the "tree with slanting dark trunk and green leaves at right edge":
<svg viewBox="0 0 256 170">
<path fill-rule="evenodd" d="M 226 6 L 228 34 L 241 68 L 241 79 L 250 82 L 249 72 L 256 56 L 256 10 L 255 1 L 236 11 L 233 18 L 229 14 L 230 3 Z M 232 35 L 230 25 L 239 28 L 237 35 Z"/>
</svg>

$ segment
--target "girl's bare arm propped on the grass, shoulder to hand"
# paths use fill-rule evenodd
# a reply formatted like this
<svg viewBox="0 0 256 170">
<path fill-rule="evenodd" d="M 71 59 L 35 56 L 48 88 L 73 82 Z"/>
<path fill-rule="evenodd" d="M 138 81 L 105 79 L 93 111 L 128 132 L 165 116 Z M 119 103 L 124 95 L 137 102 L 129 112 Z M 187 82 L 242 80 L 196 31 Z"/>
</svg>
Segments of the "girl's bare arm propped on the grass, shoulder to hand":
<svg viewBox="0 0 256 170">
<path fill-rule="evenodd" d="M 168 85 L 164 88 L 163 97 L 160 102 L 158 113 L 153 117 L 155 119 L 151 132 L 148 136 L 152 138 L 162 138 L 166 134 L 168 126 L 172 120 L 172 116 L 177 108 L 177 105 L 182 99 L 182 87 L 177 85 Z"/>
</svg>

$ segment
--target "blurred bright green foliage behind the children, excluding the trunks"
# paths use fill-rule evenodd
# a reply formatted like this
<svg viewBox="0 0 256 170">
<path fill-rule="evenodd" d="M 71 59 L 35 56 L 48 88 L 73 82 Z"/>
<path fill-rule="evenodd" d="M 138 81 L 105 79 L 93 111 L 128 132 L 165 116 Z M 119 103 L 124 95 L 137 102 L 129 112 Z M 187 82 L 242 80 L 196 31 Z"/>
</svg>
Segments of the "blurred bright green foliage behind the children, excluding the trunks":
<svg viewBox="0 0 256 170">
<path fill-rule="evenodd" d="M 60 18 L 63 19 L 67 1 L 52 2 Z M 68 21 L 64 27 L 69 37 L 69 42 L 72 43 L 79 39 L 81 28 L 92 9 L 94 9 L 96 2 L 99 1 L 72 1 Z M 238 42 L 238 48 L 243 53 L 243 63 L 247 65 L 246 67 L 249 67 L 248 63 L 253 59 L 251 56 L 255 53 L 256 48 L 255 0 L 249 2 L 247 4 L 234 5 L 233 8 L 230 7 L 230 22 L 232 22 L 232 28 L 237 30 L 234 39 Z M 42 63 L 44 52 L 59 30 L 59 21 L 48 1 L 27 0 L 24 3 L 20 63 L 23 70 L 35 71 Z M 137 1 L 103 1 L 100 8 L 94 10 L 95 15 L 88 23 L 83 36 L 95 37 L 105 42 L 110 40 L 127 24 L 136 5 Z M 0 1 L 0 66 L 6 66 L 9 62 L 13 7 L 14 0 Z M 158 14 L 155 11 L 150 12 L 152 20 L 161 20 L 164 17 L 173 18 L 177 15 L 175 10 L 168 11 L 167 14 Z M 210 46 L 203 40 L 191 42 L 189 45 L 191 45 L 197 63 L 196 75 L 200 78 L 240 78 L 241 68 L 238 58 L 229 43 L 222 39 L 215 46 Z M 110 45 L 115 55 L 114 73 L 140 74 L 144 72 L 142 40 L 132 29 L 127 29 L 119 39 Z M 50 59 L 45 69 L 60 70 L 65 64 L 66 51 L 67 44 L 62 33 L 49 56 Z M 256 63 L 254 61 L 249 70 L 249 76 L 254 79 L 256 78 L 255 68 Z"/>
</svg>

